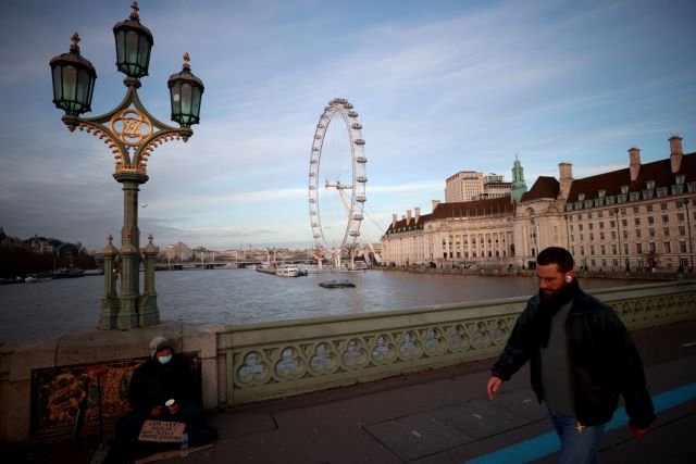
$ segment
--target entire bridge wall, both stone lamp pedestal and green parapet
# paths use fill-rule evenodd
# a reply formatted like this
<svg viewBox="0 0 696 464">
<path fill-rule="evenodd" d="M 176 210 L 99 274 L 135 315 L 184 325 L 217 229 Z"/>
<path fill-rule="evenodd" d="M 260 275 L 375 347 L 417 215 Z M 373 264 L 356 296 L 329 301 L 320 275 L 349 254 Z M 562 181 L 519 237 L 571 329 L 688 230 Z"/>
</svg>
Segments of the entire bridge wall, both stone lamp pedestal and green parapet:
<svg viewBox="0 0 696 464">
<path fill-rule="evenodd" d="M 693 280 L 593 293 L 629 329 L 696 318 Z M 127 373 L 158 335 L 195 360 L 203 407 L 217 410 L 495 356 L 526 299 L 234 326 L 162 323 L 8 343 L 0 347 L 0 441 L 70 436 L 85 396 L 87 432 L 100 402 L 113 422 Z"/>
</svg>

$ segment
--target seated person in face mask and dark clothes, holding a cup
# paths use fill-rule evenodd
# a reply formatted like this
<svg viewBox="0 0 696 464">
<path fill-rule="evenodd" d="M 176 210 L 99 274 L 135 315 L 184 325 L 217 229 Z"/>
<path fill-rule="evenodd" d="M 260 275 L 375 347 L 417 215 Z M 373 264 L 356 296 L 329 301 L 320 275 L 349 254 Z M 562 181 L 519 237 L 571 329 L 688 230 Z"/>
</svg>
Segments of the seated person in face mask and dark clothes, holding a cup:
<svg viewBox="0 0 696 464">
<path fill-rule="evenodd" d="M 133 411 L 116 422 L 113 446 L 105 462 L 129 462 L 178 443 L 139 442 L 146 421 L 174 421 L 186 424 L 191 447 L 207 444 L 217 438 L 206 425 L 201 406 L 195 399 L 195 379 L 186 361 L 173 354 L 172 343 L 164 337 L 150 341 L 150 358 L 130 378 L 128 402 Z M 173 402 L 171 401 L 173 400 Z"/>
</svg>

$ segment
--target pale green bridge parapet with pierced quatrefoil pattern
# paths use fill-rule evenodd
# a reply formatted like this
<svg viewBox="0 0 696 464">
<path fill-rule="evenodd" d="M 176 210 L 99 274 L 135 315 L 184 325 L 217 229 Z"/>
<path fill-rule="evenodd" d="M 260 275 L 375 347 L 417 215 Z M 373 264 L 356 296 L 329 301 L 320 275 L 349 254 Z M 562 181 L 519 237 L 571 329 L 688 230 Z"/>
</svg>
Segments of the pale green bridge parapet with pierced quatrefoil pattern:
<svg viewBox="0 0 696 464">
<path fill-rule="evenodd" d="M 696 283 L 593 290 L 629 329 L 696 317 Z M 231 326 L 229 406 L 495 356 L 527 298 Z"/>
</svg>

